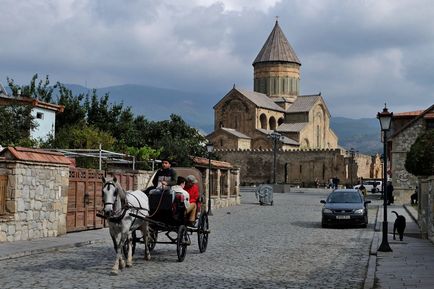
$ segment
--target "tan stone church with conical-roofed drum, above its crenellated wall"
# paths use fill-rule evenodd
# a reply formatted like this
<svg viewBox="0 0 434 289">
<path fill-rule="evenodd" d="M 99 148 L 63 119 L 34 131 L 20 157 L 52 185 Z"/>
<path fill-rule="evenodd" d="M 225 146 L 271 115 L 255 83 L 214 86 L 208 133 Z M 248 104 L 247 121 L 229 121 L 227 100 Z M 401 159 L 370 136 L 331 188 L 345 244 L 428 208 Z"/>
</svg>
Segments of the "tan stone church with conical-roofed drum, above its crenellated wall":
<svg viewBox="0 0 434 289">
<path fill-rule="evenodd" d="M 253 61 L 253 91 L 234 87 L 214 106 L 216 149 L 270 149 L 271 133 L 281 148 L 334 149 L 330 112 L 321 93 L 300 95 L 301 62 L 276 21 Z"/>
</svg>

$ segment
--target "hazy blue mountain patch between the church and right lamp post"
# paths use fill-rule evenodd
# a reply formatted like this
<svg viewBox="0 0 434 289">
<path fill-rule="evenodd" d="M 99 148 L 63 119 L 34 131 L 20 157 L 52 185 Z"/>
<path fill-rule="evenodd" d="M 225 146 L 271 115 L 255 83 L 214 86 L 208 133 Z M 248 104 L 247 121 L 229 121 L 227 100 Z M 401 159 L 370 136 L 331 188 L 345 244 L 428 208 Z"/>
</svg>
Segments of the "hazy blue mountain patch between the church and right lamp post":
<svg viewBox="0 0 434 289">
<path fill-rule="evenodd" d="M 376 154 L 383 150 L 380 124 L 376 118 L 332 117 L 330 127 L 338 136 L 339 145 L 346 149 L 354 148 L 364 154 Z"/>
</svg>

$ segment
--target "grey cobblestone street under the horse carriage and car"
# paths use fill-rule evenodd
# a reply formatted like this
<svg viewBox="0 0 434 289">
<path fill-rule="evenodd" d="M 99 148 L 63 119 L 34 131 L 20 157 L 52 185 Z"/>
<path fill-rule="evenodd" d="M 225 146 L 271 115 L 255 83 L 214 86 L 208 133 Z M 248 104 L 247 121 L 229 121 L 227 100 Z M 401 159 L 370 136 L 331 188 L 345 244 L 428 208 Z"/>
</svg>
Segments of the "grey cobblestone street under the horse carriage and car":
<svg viewBox="0 0 434 289">
<path fill-rule="evenodd" d="M 182 263 L 175 245 L 157 244 L 144 261 L 139 244 L 133 267 L 112 276 L 107 241 L 0 261 L 0 288 L 363 288 L 376 207 L 366 229 L 322 229 L 326 194 L 274 194 L 259 206 L 243 193 L 241 206 L 210 217 L 207 251 L 194 235 Z"/>
</svg>

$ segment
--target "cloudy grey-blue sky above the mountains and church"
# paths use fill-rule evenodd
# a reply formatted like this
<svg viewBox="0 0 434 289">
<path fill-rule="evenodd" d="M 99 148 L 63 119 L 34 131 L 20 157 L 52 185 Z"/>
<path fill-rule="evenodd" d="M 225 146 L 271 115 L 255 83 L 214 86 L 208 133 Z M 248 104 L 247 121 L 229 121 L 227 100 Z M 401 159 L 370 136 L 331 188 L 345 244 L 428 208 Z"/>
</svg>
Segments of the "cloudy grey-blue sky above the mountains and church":
<svg viewBox="0 0 434 289">
<path fill-rule="evenodd" d="M 253 90 L 276 16 L 332 116 L 434 104 L 431 0 L 0 0 L 0 82 Z M 223 93 L 223 94 L 222 94 Z M 207 93 L 209 95 L 210 93 Z"/>
</svg>

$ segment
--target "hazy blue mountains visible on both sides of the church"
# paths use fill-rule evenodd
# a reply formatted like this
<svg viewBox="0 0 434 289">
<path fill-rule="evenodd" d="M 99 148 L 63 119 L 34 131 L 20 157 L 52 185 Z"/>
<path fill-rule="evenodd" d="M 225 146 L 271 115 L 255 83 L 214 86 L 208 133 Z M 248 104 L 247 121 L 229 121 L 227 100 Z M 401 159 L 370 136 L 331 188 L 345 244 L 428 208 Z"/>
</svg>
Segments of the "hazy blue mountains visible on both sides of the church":
<svg viewBox="0 0 434 289">
<path fill-rule="evenodd" d="M 88 88 L 75 84 L 66 85 L 73 94 L 86 93 Z M 135 84 L 103 87 L 97 95 L 109 94 L 111 103 L 130 106 L 136 115 L 159 121 L 169 119 L 174 113 L 180 115 L 190 126 L 205 134 L 214 127 L 213 106 L 226 92 L 188 92 Z M 339 145 L 354 148 L 361 153 L 375 154 L 382 150 L 380 128 L 375 118 L 351 119 L 332 117 L 330 126 L 339 138 Z"/>
</svg>

